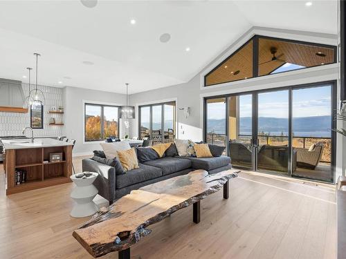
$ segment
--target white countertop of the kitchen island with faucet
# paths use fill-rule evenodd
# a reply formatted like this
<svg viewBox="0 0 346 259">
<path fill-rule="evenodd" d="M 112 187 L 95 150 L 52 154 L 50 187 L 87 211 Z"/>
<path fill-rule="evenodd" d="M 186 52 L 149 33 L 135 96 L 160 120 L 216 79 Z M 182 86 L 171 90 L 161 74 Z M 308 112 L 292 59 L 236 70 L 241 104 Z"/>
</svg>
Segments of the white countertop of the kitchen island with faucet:
<svg viewBox="0 0 346 259">
<path fill-rule="evenodd" d="M 23 149 L 23 148 L 44 148 L 49 146 L 73 146 L 72 143 L 53 140 L 48 138 L 35 138 L 34 142 L 31 139 L 24 140 L 1 140 L 5 150 Z"/>
</svg>

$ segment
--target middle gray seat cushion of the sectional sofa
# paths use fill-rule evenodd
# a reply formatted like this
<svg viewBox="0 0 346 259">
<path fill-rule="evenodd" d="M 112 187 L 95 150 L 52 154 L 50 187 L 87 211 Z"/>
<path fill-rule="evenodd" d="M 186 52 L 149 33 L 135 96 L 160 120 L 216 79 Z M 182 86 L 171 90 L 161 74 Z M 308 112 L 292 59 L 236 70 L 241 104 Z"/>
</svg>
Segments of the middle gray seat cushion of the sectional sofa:
<svg viewBox="0 0 346 259">
<path fill-rule="evenodd" d="M 169 175 L 191 167 L 190 160 L 177 157 L 163 157 L 156 160 L 145 162 L 148 166 L 155 166 L 162 170 L 162 175 Z"/>
</svg>

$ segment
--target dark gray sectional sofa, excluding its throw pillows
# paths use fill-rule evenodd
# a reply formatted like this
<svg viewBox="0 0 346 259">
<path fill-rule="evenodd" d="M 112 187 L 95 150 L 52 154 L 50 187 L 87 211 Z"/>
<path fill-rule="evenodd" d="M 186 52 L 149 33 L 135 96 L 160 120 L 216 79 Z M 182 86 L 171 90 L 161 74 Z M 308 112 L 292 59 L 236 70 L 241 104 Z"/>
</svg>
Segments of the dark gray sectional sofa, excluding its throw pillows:
<svg viewBox="0 0 346 259">
<path fill-rule="evenodd" d="M 139 169 L 119 175 L 113 166 L 89 158 L 82 160 L 83 171 L 99 174 L 94 185 L 98 189 L 98 194 L 109 200 L 109 204 L 132 190 L 178 175 L 185 175 L 196 169 L 203 169 L 212 174 L 230 168 L 230 157 L 223 155 L 208 158 L 174 156 L 139 163 Z"/>
</svg>

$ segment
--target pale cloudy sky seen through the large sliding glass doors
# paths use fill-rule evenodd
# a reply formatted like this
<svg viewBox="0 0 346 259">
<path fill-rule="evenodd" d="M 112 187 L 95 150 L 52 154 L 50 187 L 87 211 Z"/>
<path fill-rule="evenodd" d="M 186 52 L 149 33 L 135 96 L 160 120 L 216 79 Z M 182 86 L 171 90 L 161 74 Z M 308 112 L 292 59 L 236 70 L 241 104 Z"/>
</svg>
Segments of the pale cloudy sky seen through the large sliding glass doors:
<svg viewBox="0 0 346 259">
<path fill-rule="evenodd" d="M 240 117 L 251 117 L 251 95 L 239 97 Z M 293 117 L 331 115 L 330 86 L 293 90 Z M 289 90 L 260 93 L 258 95 L 259 117 L 288 118 Z M 224 102 L 208 104 L 208 119 L 224 119 Z"/>
</svg>

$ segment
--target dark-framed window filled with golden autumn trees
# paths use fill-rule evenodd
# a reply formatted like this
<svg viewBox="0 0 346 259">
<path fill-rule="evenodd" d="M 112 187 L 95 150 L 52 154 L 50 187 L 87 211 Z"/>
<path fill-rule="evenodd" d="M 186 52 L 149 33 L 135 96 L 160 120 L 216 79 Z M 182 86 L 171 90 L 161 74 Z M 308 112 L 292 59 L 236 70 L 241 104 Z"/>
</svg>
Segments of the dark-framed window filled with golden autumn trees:
<svg viewBox="0 0 346 259">
<path fill-rule="evenodd" d="M 100 141 L 106 137 L 119 137 L 118 106 L 85 104 L 84 111 L 86 142 Z"/>
</svg>

